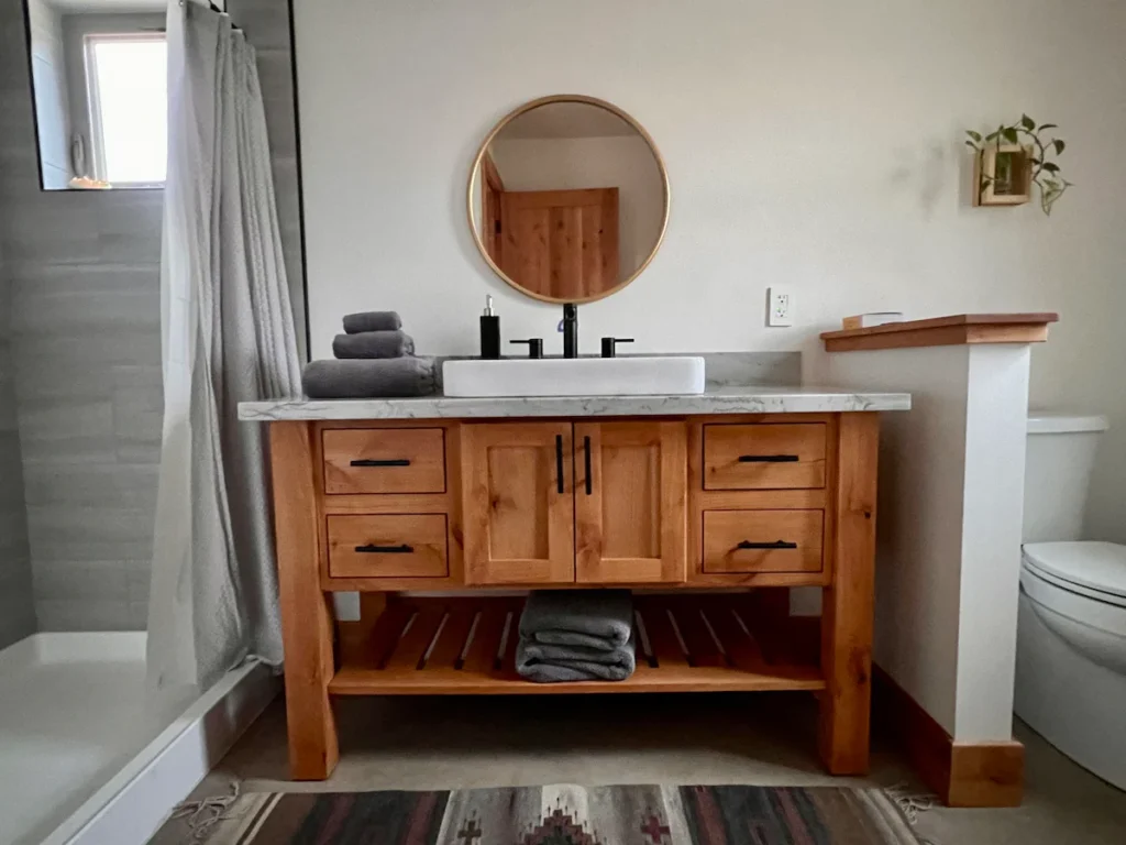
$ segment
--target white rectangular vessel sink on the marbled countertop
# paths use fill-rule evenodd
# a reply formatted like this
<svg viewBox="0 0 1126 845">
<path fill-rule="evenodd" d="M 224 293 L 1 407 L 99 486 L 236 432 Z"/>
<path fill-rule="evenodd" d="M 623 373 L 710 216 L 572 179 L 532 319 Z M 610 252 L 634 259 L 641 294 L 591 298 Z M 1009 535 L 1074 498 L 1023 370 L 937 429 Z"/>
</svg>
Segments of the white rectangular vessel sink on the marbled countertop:
<svg viewBox="0 0 1126 845">
<path fill-rule="evenodd" d="M 704 358 L 447 361 L 447 397 L 646 397 L 704 392 Z"/>
</svg>

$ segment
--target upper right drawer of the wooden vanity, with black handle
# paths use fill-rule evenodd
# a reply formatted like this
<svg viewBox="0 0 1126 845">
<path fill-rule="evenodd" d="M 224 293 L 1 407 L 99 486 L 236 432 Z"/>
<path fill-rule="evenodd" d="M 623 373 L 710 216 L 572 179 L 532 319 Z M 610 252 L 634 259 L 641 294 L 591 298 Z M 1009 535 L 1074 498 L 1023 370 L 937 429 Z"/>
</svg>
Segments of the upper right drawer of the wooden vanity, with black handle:
<svg viewBox="0 0 1126 845">
<path fill-rule="evenodd" d="M 705 490 L 824 486 L 824 422 L 704 426 Z"/>
</svg>

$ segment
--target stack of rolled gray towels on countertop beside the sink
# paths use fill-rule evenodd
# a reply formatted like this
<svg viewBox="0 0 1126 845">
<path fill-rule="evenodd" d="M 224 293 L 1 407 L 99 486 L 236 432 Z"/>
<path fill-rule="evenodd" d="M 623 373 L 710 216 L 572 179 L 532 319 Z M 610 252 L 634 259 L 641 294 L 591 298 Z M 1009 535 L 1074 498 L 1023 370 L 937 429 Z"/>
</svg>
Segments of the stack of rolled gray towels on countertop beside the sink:
<svg viewBox="0 0 1126 845">
<path fill-rule="evenodd" d="M 336 361 L 313 361 L 302 374 L 311 399 L 425 397 L 435 392 L 434 358 L 415 357 L 414 341 L 394 311 L 365 311 L 345 318 L 345 333 L 332 341 Z"/>
</svg>

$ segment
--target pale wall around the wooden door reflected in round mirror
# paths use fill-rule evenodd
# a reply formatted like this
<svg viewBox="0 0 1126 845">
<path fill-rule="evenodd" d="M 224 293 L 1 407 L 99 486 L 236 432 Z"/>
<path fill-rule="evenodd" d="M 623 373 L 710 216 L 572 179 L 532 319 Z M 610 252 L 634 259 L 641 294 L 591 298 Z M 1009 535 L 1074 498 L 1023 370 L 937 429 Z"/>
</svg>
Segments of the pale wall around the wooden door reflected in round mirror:
<svg viewBox="0 0 1126 845">
<path fill-rule="evenodd" d="M 617 188 L 618 275 L 628 278 L 649 258 L 661 232 L 664 196 L 645 139 L 499 139 L 492 157 L 506 190 Z"/>
</svg>

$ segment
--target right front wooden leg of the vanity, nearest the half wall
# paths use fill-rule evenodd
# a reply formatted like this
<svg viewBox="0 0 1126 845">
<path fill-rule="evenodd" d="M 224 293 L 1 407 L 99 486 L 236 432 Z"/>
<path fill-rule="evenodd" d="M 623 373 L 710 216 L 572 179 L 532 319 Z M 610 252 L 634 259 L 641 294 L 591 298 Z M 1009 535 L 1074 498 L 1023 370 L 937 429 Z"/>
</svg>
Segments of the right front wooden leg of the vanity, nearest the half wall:
<svg viewBox="0 0 1126 845">
<path fill-rule="evenodd" d="M 868 771 L 879 417 L 841 413 L 832 584 L 823 592 L 820 747 L 835 775 Z"/>
</svg>

